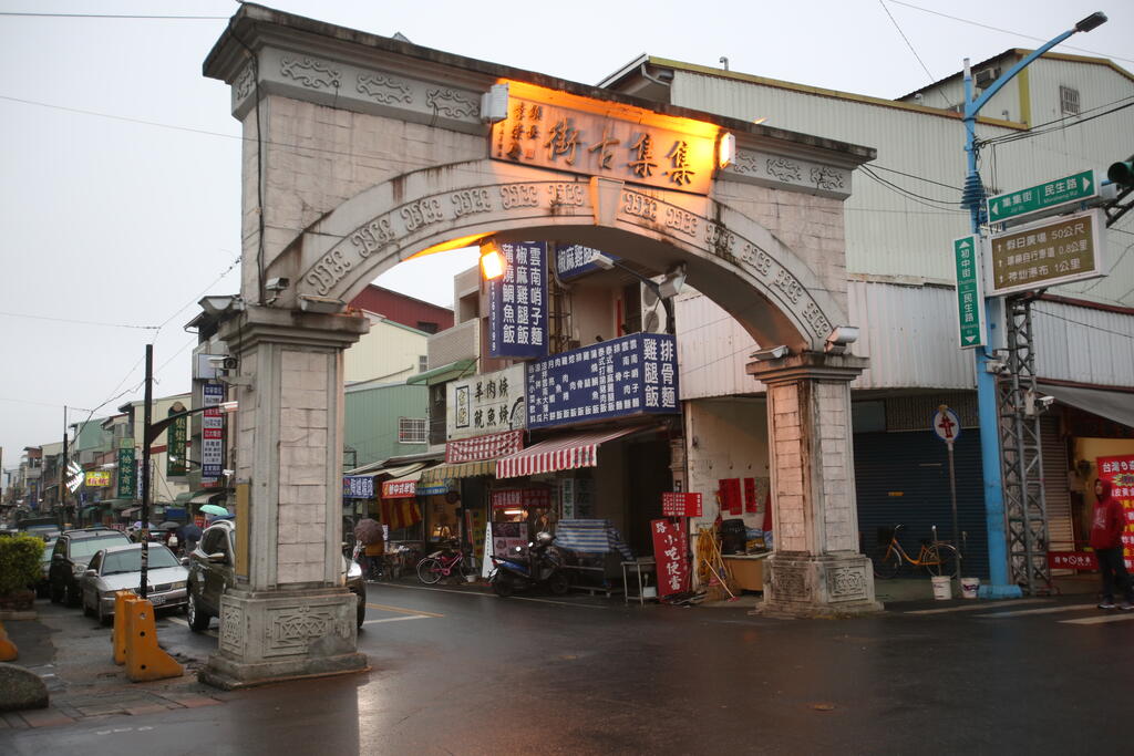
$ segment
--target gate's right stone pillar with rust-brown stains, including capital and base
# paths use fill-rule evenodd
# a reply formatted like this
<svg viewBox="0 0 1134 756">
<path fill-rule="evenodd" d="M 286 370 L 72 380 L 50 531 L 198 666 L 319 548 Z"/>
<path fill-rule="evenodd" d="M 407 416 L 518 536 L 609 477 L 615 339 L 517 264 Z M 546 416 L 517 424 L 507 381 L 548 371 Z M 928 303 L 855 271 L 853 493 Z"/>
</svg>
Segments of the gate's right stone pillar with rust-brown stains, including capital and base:
<svg viewBox="0 0 1134 756">
<path fill-rule="evenodd" d="M 763 611 L 794 617 L 881 610 L 858 552 L 850 381 L 866 359 L 804 352 L 754 362 L 768 387 L 775 550 Z"/>
</svg>

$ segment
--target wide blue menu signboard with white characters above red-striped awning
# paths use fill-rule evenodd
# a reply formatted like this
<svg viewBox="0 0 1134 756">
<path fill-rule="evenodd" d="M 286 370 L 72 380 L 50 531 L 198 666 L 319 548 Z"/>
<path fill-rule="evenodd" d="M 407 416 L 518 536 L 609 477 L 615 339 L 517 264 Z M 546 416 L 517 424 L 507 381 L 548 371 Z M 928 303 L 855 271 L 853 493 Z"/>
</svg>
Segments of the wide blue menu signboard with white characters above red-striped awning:
<svg viewBox="0 0 1134 756">
<path fill-rule="evenodd" d="M 674 337 L 632 333 L 527 366 L 527 426 L 677 413 Z"/>
</svg>

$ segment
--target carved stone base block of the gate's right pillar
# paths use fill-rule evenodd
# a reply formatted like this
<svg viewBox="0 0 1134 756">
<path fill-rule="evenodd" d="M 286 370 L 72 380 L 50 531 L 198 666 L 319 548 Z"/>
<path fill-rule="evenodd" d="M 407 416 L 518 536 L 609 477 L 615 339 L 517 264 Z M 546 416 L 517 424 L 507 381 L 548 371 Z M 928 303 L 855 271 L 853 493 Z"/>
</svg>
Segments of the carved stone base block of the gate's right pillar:
<svg viewBox="0 0 1134 756">
<path fill-rule="evenodd" d="M 760 612 L 781 617 L 850 617 L 882 611 L 870 559 L 776 553 L 764 568 Z"/>
</svg>

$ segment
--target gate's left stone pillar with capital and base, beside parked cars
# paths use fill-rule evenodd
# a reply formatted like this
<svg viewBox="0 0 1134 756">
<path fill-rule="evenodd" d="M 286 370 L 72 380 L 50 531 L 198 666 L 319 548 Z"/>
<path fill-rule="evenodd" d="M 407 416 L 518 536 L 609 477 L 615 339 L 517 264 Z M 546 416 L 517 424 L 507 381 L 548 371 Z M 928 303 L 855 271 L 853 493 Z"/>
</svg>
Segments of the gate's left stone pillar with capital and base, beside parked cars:
<svg viewBox="0 0 1134 756">
<path fill-rule="evenodd" d="M 249 306 L 222 325 L 239 360 L 236 586 L 201 670 L 236 688 L 366 669 L 342 577 L 342 350 L 364 317 Z"/>
</svg>

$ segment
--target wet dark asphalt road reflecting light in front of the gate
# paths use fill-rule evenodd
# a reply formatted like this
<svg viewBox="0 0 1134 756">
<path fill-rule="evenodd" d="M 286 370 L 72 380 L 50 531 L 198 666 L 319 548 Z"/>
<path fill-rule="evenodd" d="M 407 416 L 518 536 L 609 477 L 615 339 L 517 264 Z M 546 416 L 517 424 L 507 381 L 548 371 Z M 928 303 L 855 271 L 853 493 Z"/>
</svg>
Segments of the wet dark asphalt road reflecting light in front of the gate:
<svg viewBox="0 0 1134 756">
<path fill-rule="evenodd" d="M 844 621 L 373 584 L 369 601 L 369 673 L 239 691 L 200 710 L 0 732 L 0 751 L 1134 750 L 1134 621 L 1067 623 L 1100 614 L 1090 596 L 938 614 L 904 605 Z M 204 657 L 215 644 L 176 618 L 167 625 L 171 651 Z"/>
</svg>

